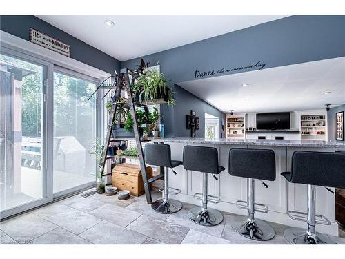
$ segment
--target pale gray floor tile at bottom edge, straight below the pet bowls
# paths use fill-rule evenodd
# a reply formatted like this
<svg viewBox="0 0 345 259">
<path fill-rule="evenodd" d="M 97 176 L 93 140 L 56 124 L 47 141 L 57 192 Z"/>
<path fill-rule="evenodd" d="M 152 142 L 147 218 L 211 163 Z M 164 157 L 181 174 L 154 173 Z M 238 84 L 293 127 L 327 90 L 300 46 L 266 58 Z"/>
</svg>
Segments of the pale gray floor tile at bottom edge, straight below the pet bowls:
<svg viewBox="0 0 345 259">
<path fill-rule="evenodd" d="M 142 244 L 146 236 L 135 231 L 102 221 L 79 236 L 94 244 Z"/>
</svg>

